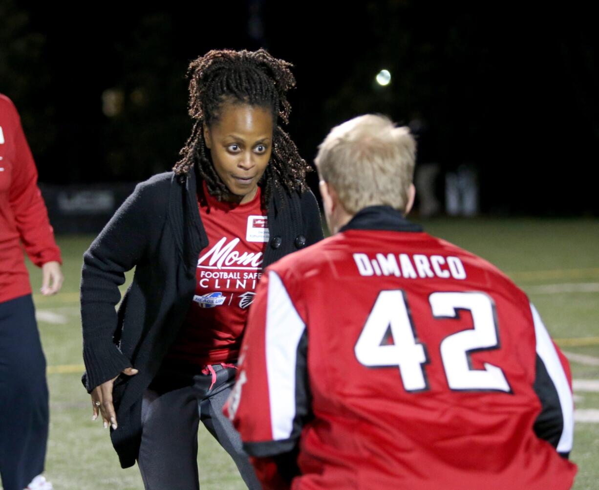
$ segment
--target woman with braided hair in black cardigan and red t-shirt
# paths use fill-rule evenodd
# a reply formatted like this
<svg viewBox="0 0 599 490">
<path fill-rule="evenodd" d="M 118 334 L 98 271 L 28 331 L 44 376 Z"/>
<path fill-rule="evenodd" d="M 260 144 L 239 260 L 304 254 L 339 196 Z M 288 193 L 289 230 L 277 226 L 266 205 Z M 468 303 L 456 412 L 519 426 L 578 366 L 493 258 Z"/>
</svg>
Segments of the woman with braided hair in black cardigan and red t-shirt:
<svg viewBox="0 0 599 490">
<path fill-rule="evenodd" d="M 199 488 L 200 420 L 260 488 L 222 406 L 263 267 L 322 239 L 310 167 L 278 124 L 290 67 L 262 49 L 193 61 L 180 161 L 139 184 L 84 254 L 83 381 L 147 489 Z"/>
</svg>

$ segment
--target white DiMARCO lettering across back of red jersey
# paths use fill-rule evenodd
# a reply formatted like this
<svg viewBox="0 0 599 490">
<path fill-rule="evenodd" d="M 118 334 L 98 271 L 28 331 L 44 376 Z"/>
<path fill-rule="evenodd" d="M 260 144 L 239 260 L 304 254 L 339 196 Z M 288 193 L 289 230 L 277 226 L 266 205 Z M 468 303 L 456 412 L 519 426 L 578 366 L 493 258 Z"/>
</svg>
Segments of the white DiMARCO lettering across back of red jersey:
<svg viewBox="0 0 599 490">
<path fill-rule="evenodd" d="M 397 276 L 409 279 L 438 277 L 441 279 L 465 279 L 464 264 L 458 257 L 424 254 L 376 254 L 369 258 L 367 254 L 353 254 L 361 276 Z"/>
</svg>

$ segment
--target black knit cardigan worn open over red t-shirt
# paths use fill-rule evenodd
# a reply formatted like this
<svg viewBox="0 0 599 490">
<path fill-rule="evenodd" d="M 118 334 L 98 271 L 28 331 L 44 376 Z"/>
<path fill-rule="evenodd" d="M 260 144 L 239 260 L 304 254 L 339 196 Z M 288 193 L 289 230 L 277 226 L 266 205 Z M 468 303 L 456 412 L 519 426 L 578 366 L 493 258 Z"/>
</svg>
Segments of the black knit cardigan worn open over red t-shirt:
<svg viewBox="0 0 599 490">
<path fill-rule="evenodd" d="M 274 190 L 268 228 L 264 267 L 322 239 L 314 195 Z M 189 309 L 198 256 L 207 245 L 195 173 L 181 181 L 166 172 L 138 184 L 83 255 L 83 383 L 90 392 L 128 366 L 139 370 L 117 378 L 113 389 L 119 427 L 111 429 L 111 439 L 123 468 L 137 459 L 143 393 Z M 116 312 L 118 287 L 133 267 L 133 281 Z"/>
</svg>

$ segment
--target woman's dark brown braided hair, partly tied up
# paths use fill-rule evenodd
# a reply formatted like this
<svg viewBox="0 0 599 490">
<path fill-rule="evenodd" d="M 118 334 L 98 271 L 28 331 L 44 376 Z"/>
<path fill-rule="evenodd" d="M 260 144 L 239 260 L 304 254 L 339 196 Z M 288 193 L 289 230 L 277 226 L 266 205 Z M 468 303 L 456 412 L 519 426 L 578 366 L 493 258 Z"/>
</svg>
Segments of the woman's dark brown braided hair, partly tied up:
<svg viewBox="0 0 599 490">
<path fill-rule="evenodd" d="M 184 177 L 196 165 L 196 172 L 206 182 L 208 192 L 223 200 L 229 190 L 220 180 L 204 142 L 204 122 L 210 127 L 219 121 L 224 104 L 249 104 L 271 111 L 273 151 L 261 179 L 263 202 L 268 203 L 273 190 L 304 191 L 305 173 L 311 168 L 299 156 L 291 137 L 277 124 L 277 116 L 289 122 L 291 105 L 286 92 L 295 86 L 291 63 L 273 58 L 266 50 L 211 50 L 192 61 L 189 77 L 189 115 L 195 119 L 193 130 L 174 173 Z"/>
</svg>

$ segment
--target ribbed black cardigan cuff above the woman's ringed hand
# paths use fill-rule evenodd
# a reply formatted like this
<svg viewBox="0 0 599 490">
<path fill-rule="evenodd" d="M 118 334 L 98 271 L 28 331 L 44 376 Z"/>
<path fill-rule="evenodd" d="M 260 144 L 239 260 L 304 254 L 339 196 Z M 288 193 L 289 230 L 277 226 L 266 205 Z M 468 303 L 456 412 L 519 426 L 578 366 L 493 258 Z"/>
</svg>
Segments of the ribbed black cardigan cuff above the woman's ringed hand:
<svg viewBox="0 0 599 490">
<path fill-rule="evenodd" d="M 86 342 L 83 362 L 86 368 L 84 384 L 88 393 L 132 366 L 131 361 L 112 342 Z"/>
</svg>

